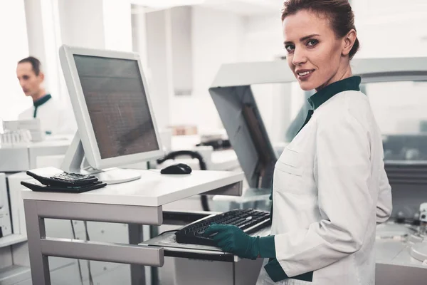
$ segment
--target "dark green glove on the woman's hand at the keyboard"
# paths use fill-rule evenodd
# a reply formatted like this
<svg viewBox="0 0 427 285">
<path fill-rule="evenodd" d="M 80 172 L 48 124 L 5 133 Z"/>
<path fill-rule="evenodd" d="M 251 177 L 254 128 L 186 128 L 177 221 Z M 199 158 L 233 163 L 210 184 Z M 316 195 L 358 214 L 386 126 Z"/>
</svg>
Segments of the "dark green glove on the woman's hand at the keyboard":
<svg viewBox="0 0 427 285">
<path fill-rule="evenodd" d="M 211 224 L 204 232 L 204 235 L 215 234 L 214 242 L 221 247 L 224 252 L 236 254 L 238 257 L 246 259 L 256 259 L 259 254 L 258 239 L 245 234 L 240 228 L 230 224 Z"/>
</svg>

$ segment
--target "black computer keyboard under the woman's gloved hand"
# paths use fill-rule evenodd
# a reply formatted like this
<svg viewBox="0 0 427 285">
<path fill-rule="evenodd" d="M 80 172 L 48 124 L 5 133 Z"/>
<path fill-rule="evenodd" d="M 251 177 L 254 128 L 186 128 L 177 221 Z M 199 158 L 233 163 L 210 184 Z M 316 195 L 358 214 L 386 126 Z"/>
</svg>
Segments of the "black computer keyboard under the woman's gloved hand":
<svg viewBox="0 0 427 285">
<path fill-rule="evenodd" d="M 188 226 L 179 229 L 175 233 L 176 242 L 181 244 L 203 244 L 216 246 L 214 239 L 204 237 L 204 231 L 212 223 L 232 224 L 251 234 L 257 232 L 271 224 L 270 212 L 258 211 L 255 209 L 235 209 L 222 214 L 216 214 L 214 217 L 199 219 Z"/>
</svg>

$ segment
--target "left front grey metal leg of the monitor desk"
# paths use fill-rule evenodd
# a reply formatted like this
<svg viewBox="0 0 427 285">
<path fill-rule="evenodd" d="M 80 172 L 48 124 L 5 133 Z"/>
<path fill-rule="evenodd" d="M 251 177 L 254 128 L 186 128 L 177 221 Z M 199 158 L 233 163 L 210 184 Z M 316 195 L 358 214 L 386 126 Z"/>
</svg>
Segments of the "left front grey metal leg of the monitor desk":
<svg viewBox="0 0 427 285">
<path fill-rule="evenodd" d="M 33 284 L 51 285 L 49 261 L 41 252 L 41 239 L 46 237 L 44 219 L 38 217 L 37 202 L 24 200 L 26 229 L 28 237 L 28 252 L 30 254 L 31 278 Z"/>
</svg>

